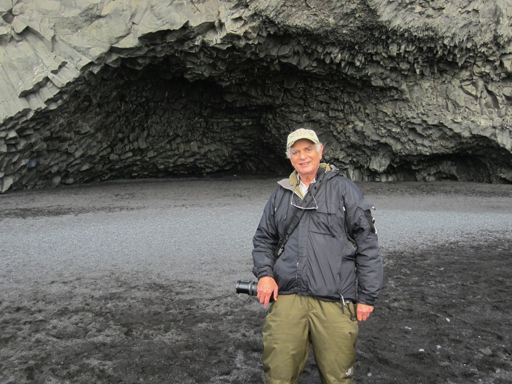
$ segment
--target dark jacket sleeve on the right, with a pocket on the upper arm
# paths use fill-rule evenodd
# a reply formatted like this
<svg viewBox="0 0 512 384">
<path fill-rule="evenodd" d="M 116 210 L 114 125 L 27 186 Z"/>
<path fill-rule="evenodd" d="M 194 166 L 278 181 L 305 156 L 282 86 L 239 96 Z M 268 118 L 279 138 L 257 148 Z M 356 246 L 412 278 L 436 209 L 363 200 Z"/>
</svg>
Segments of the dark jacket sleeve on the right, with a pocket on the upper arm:
<svg viewBox="0 0 512 384">
<path fill-rule="evenodd" d="M 346 194 L 347 226 L 356 243 L 357 301 L 374 305 L 382 289 L 382 255 L 371 213 L 373 204 L 353 184 Z"/>
</svg>

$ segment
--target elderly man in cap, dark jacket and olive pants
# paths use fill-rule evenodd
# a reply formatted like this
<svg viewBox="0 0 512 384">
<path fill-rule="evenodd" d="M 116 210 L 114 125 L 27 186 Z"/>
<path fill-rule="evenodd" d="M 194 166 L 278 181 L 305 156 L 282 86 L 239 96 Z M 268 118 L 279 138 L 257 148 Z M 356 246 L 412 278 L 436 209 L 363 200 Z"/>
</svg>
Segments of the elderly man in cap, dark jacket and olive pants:
<svg viewBox="0 0 512 384">
<path fill-rule="evenodd" d="M 265 307 L 275 301 L 263 328 L 266 382 L 296 383 L 311 345 L 323 384 L 352 383 L 357 321 L 370 316 L 382 286 L 372 204 L 320 162 L 314 131 L 292 132 L 286 148 L 295 170 L 253 238 L 258 298 Z"/>
</svg>

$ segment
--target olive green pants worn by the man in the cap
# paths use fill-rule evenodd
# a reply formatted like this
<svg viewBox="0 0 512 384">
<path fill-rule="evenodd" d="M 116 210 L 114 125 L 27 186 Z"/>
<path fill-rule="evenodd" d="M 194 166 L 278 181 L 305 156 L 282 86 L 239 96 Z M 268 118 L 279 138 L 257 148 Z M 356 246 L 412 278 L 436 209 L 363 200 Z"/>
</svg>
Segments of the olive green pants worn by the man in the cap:
<svg viewBox="0 0 512 384">
<path fill-rule="evenodd" d="M 350 310 L 349 310 L 350 309 Z M 263 327 L 263 369 L 267 384 L 296 384 L 310 345 L 322 384 L 351 384 L 357 320 L 354 305 L 310 296 L 280 295 Z"/>
</svg>

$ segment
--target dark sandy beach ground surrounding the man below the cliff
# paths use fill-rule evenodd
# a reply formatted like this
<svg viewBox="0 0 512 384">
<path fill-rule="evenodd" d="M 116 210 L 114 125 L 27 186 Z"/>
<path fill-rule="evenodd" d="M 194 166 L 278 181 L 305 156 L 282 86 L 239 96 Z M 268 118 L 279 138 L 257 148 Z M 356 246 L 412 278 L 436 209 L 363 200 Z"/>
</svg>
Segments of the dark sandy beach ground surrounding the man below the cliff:
<svg viewBox="0 0 512 384">
<path fill-rule="evenodd" d="M 262 383 L 265 310 L 234 287 L 277 179 L 0 195 L 0 384 Z M 354 381 L 512 382 L 512 186 L 358 185 L 385 284 Z"/>
</svg>

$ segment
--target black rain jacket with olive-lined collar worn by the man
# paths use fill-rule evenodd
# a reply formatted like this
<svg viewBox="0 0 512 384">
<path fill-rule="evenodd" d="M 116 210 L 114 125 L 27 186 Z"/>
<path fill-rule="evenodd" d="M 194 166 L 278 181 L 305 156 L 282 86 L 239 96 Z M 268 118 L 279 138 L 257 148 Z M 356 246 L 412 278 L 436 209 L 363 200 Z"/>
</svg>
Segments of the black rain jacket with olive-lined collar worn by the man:
<svg viewBox="0 0 512 384">
<path fill-rule="evenodd" d="M 279 294 L 296 293 L 325 301 L 343 297 L 374 305 L 383 272 L 373 205 L 336 167 L 325 163 L 321 167 L 326 174 L 315 195 L 318 208 L 304 212 L 276 260 L 274 250 L 293 211 L 299 209 L 292 203 L 300 205 L 302 198 L 296 172 L 279 182 L 252 240 L 252 272 L 258 279 L 272 276 Z"/>
</svg>

